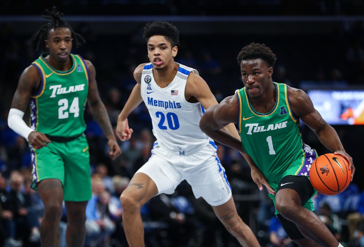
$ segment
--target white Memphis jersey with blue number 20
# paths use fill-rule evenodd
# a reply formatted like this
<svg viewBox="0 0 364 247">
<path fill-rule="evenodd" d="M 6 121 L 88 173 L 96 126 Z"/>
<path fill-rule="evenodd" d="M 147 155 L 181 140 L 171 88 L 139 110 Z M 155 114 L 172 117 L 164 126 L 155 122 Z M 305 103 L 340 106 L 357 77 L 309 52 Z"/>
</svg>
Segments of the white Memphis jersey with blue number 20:
<svg viewBox="0 0 364 247">
<path fill-rule="evenodd" d="M 179 64 L 173 81 L 165 88 L 157 85 L 153 77 L 153 64 L 144 66 L 141 95 L 153 123 L 153 134 L 158 144 L 173 151 L 189 152 L 211 140 L 199 128 L 203 106 L 185 99 L 188 75 L 197 70 Z"/>
</svg>

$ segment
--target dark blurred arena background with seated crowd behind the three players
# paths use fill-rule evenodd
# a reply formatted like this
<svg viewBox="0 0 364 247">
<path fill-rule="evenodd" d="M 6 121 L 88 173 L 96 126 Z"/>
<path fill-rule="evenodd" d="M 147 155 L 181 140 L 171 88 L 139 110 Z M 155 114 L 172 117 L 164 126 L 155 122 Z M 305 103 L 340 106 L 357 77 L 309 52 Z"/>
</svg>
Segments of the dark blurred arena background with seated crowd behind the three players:
<svg viewBox="0 0 364 247">
<path fill-rule="evenodd" d="M 23 2 L 27 5 L 31 1 Z M 72 4 L 78 6 L 90 4 L 90 14 L 92 14 L 97 6 L 96 2 L 98 1 L 62 1 L 66 9 L 64 11 L 65 19 L 67 20 L 67 15 L 76 14 L 75 9 L 73 9 L 74 12 L 67 12 L 71 9 Z M 114 13 L 115 9 L 112 8 L 114 5 L 121 4 L 122 7 L 125 6 L 128 9 L 135 4 L 126 0 L 104 0 L 102 2 L 100 8 L 107 8 L 110 13 Z M 151 10 L 151 5 L 146 4 L 147 1 L 139 0 L 137 2 L 145 4 L 146 8 Z M 214 13 L 214 9 L 223 1 L 216 2 L 210 7 L 207 7 L 206 1 L 197 1 L 196 4 L 205 6 L 206 8 L 202 9 Z M 232 6 L 239 5 L 242 9 L 254 5 L 253 1 L 228 2 Z M 295 13 L 296 8 L 289 4 L 291 1 L 261 0 L 259 2 L 262 3 L 262 15 L 269 14 L 269 6 L 276 7 L 276 12 L 272 11 L 271 15 L 287 15 L 289 10 L 292 14 L 304 14 Z M 311 8 L 311 12 L 310 8 L 301 9 L 303 12 L 306 9 L 307 15 L 364 13 L 363 1 L 345 1 L 346 5 L 343 4 L 344 1 L 340 0 L 307 2 L 316 6 Z M 165 14 L 168 15 L 184 13 L 183 11 L 186 9 L 185 6 L 180 6 L 181 4 L 175 1 L 156 0 L 153 3 L 163 6 L 162 9 L 168 9 L 168 11 L 165 10 L 168 12 Z M 278 8 L 282 3 L 285 4 L 285 8 Z M 4 9 L 11 9 L 13 2 L 3 1 L 1 4 L 4 8 L 0 12 L 4 15 Z M 34 12 L 32 9 L 34 8 L 31 8 L 31 13 Z M 38 8 L 32 14 L 41 15 L 43 9 Z M 62 8 L 59 10 L 63 11 Z M 236 8 L 231 8 L 231 10 L 233 13 L 237 12 Z M 139 14 L 142 14 L 143 11 Z M 195 15 L 204 13 L 190 12 Z M 14 13 L 10 11 L 8 14 Z M 158 14 L 163 14 L 163 11 Z M 173 23 L 173 21 L 171 22 Z M 70 23 L 72 24 L 72 22 Z M 178 28 L 178 23 L 174 24 Z M 145 40 L 142 38 L 144 25 L 128 35 L 99 35 L 93 32 L 93 23 L 90 21 L 79 21 L 77 25 L 73 26 L 73 29 L 84 37 L 86 44 L 78 49 L 74 47 L 72 52 L 80 54 L 94 64 L 100 96 L 106 105 L 114 128 L 117 117 L 135 85 L 132 72 L 138 64 L 149 62 Z M 249 23 L 241 25 L 249 25 Z M 229 28 L 228 22 L 226 22 L 226 28 Z M 34 32 L 36 31 L 34 30 Z M 43 216 L 43 204 L 37 192 L 29 187 L 32 181 L 32 165 L 28 143 L 23 137 L 9 129 L 7 115 L 21 71 L 29 66 L 40 55 L 40 52 L 35 51 L 35 44 L 30 40 L 31 35 L 24 35 L 19 30 L 14 30 L 11 23 L 7 21 L 0 22 L 0 34 L 2 58 L 0 61 L 0 246 L 36 247 L 40 246 L 39 224 Z M 289 86 L 297 88 L 303 87 L 302 85 L 306 87 L 307 85 L 345 87 L 363 84 L 363 20 L 342 22 L 335 31 L 329 34 L 324 32 L 323 35 L 297 35 L 297 33 L 192 35 L 181 33 L 175 61 L 196 68 L 220 102 L 242 87 L 236 57 L 241 48 L 250 42 L 265 43 L 277 55 L 273 73 L 275 82 L 287 83 Z M 27 116 L 29 113 L 26 113 L 25 119 L 28 119 Z M 155 137 L 151 132 L 149 113 L 144 104 L 139 105 L 132 112 L 128 121 L 129 126 L 134 129 L 134 133 L 130 140 L 119 142 L 122 155 L 114 161 L 108 157 L 107 140 L 87 106 L 84 117 L 87 123 L 85 134 L 90 146 L 93 193 L 86 209 L 85 246 L 127 246 L 122 226 L 122 208 L 119 196 L 135 171 L 150 157 Z M 361 144 L 361 138 L 359 141 L 353 141 L 357 136 L 363 136 L 363 127 L 334 126 L 334 128 L 339 133 L 346 151 L 353 157 L 357 168 L 356 177 L 348 189 L 339 195 L 317 194 L 314 197 L 315 212 L 344 246 L 364 247 L 364 184 L 359 181 L 360 166 L 363 163 L 362 159 L 360 160 L 360 151 L 363 144 Z M 319 154 L 329 152 L 308 128 L 303 126 L 302 133 L 304 141 L 317 149 Z M 252 181 L 249 165 L 238 152 L 219 144 L 217 146 L 218 156 L 232 186 L 238 213 L 252 228 L 261 246 L 294 246 L 281 228 L 279 221 L 274 217 L 273 203 L 268 197 L 268 192 L 259 191 Z M 151 199 L 143 206 L 142 217 L 146 246 L 239 246 L 238 242 L 219 223 L 211 207 L 203 199 L 194 198 L 186 181 L 179 185 L 173 195 L 162 194 Z M 66 225 L 67 216 L 64 214 L 60 226 L 61 246 L 66 246 L 64 242 Z"/>
</svg>

